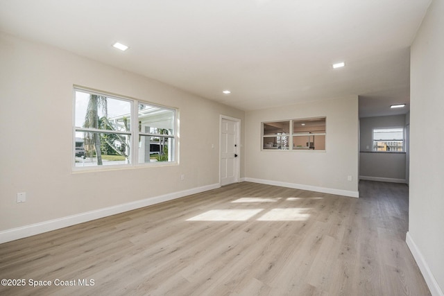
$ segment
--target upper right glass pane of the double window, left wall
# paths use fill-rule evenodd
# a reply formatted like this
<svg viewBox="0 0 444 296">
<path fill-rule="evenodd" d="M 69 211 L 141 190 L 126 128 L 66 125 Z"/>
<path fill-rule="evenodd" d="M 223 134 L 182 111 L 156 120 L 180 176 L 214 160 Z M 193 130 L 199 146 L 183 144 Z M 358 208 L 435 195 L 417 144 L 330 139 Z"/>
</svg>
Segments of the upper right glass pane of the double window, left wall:
<svg viewBox="0 0 444 296">
<path fill-rule="evenodd" d="M 139 103 L 139 132 L 174 134 L 176 111 Z"/>
</svg>

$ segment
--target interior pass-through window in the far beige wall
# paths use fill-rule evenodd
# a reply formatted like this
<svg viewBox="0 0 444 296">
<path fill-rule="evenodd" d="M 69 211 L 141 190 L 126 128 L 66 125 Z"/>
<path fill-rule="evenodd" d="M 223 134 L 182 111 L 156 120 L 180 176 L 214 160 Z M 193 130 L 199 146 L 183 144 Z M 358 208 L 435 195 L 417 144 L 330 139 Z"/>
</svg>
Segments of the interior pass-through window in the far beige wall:
<svg viewBox="0 0 444 296">
<path fill-rule="evenodd" d="M 325 117 L 262 123 L 264 150 L 325 150 Z"/>
</svg>

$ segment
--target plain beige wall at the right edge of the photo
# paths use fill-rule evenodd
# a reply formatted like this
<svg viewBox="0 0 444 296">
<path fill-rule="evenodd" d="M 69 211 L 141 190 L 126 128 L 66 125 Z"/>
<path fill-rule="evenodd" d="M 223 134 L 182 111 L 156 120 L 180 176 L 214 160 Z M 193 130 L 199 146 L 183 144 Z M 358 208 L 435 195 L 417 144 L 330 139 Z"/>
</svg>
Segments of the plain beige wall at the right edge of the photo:
<svg viewBox="0 0 444 296">
<path fill-rule="evenodd" d="M 443 16 L 444 1 L 432 1 L 411 46 L 407 242 L 432 295 L 444 295 Z"/>
</svg>

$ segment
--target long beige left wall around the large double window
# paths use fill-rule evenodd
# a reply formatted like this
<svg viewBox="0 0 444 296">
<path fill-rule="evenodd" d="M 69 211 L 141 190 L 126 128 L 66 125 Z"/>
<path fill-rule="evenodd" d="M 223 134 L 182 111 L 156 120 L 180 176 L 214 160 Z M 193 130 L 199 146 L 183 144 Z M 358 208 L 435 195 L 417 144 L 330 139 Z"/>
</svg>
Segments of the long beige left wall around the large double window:
<svg viewBox="0 0 444 296">
<path fill-rule="evenodd" d="M 155 80 L 9 35 L 0 52 L 0 232 L 219 184 L 220 114 L 241 119 L 244 134 L 244 111 Z M 73 173 L 73 85 L 177 107 L 180 164 Z"/>
</svg>

